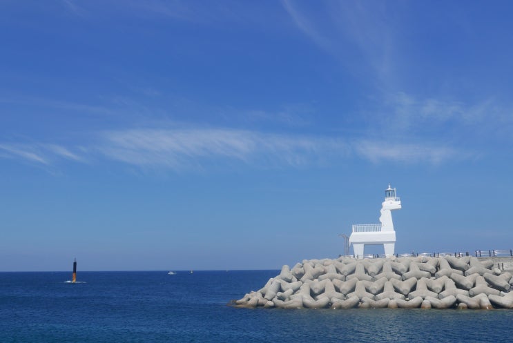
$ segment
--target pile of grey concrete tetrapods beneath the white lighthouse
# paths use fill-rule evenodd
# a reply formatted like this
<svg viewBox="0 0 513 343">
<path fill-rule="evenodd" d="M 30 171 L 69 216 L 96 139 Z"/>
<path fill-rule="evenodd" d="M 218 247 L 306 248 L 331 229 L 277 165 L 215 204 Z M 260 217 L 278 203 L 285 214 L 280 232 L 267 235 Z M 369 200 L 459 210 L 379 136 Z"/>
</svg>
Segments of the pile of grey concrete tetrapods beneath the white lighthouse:
<svg viewBox="0 0 513 343">
<path fill-rule="evenodd" d="M 513 278 L 474 256 L 303 260 L 285 265 L 244 308 L 513 308 Z"/>
</svg>

